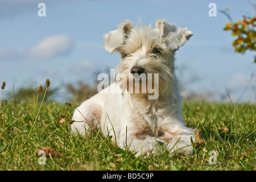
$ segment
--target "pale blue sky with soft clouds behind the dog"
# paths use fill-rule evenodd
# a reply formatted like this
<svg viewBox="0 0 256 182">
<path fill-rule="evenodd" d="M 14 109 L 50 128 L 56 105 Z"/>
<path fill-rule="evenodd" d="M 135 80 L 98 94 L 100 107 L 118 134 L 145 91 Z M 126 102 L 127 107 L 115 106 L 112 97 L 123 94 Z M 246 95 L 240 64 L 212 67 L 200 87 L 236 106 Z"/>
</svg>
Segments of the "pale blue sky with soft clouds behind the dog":
<svg viewBox="0 0 256 182">
<path fill-rule="evenodd" d="M 39 3 L 46 4 L 46 17 L 39 17 Z M 217 16 L 210 17 L 209 3 L 216 3 Z M 92 82 L 95 72 L 119 64 L 118 53 L 102 47 L 102 35 L 129 19 L 155 26 L 166 18 L 193 32 L 176 52 L 177 75 L 185 93 L 211 93 L 211 100 L 255 102 L 255 52 L 234 52 L 234 38 L 224 31 L 228 18 L 219 12 L 227 7 L 233 20 L 254 16 L 245 0 L 195 1 L 0 1 L 0 81 L 13 86 L 39 86 L 46 78 L 52 87 L 82 80 Z M 254 77 L 252 76 L 254 75 Z M 255 88 L 254 88 L 255 89 Z M 5 92 L 7 92 L 5 90 Z M 65 100 L 65 94 L 59 96 Z"/>
</svg>

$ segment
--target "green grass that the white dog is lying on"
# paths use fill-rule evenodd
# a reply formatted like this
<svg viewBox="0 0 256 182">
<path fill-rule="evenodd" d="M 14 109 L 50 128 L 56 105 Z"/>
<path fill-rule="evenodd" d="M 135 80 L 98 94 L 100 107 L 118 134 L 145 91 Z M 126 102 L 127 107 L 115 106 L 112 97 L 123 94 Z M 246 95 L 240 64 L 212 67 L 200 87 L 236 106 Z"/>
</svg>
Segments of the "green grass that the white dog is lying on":
<svg viewBox="0 0 256 182">
<path fill-rule="evenodd" d="M 136 158 L 118 148 L 101 133 L 93 138 L 73 136 L 69 126 L 74 108 L 64 103 L 44 102 L 31 127 L 35 99 L 19 104 L 3 102 L 0 110 L 0 170 L 255 170 L 255 104 L 185 102 L 188 127 L 200 129 L 204 143 L 194 146 L 192 156 Z M 60 114 L 68 115 L 60 124 Z M 35 151 L 56 148 L 60 158 L 38 163 Z M 209 164 L 210 151 L 217 163 Z"/>
</svg>

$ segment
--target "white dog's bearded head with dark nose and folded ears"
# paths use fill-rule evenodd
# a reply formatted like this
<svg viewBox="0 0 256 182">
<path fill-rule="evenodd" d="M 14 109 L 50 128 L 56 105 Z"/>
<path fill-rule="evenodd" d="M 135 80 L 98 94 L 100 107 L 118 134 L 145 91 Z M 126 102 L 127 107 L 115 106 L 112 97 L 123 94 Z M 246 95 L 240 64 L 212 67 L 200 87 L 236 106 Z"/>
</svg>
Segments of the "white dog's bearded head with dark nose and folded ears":
<svg viewBox="0 0 256 182">
<path fill-rule="evenodd" d="M 158 85 L 154 86 L 158 87 L 159 93 L 164 93 L 174 77 L 174 53 L 192 35 L 187 28 L 177 27 L 166 20 L 156 20 L 156 27 L 134 27 L 132 22 L 125 20 L 117 30 L 104 35 L 103 46 L 111 53 L 121 53 L 122 61 L 116 73 L 122 77 L 119 82 L 123 90 L 134 92 L 134 80 L 139 77 L 139 93 L 143 93 L 144 86 L 148 94 L 148 86 L 151 84 L 152 87 L 156 81 Z M 144 84 L 143 78 L 147 80 Z"/>
</svg>

